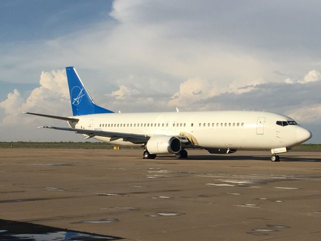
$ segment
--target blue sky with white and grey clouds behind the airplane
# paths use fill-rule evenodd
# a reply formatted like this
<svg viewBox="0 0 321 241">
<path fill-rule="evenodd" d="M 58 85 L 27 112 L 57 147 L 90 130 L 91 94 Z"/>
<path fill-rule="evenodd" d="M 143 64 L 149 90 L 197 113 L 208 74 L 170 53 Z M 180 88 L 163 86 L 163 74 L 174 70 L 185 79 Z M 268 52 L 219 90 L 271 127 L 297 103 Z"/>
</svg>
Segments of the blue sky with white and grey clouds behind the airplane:
<svg viewBox="0 0 321 241">
<path fill-rule="evenodd" d="M 295 0 L 3 1 L 0 141 L 82 140 L 35 129 L 64 123 L 20 114 L 70 115 L 64 67 L 73 65 L 115 111 L 279 112 L 321 143 L 319 9 Z"/>
</svg>

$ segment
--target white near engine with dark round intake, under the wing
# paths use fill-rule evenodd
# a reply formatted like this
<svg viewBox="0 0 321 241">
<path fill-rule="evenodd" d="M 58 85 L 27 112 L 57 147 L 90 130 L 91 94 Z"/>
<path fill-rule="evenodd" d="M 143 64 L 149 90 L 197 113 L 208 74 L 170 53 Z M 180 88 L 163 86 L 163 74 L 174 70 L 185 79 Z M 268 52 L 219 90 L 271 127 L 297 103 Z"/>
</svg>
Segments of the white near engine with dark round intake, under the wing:
<svg viewBox="0 0 321 241">
<path fill-rule="evenodd" d="M 150 154 L 176 154 L 181 151 L 182 144 L 177 137 L 160 136 L 151 137 L 145 148 Z"/>
</svg>

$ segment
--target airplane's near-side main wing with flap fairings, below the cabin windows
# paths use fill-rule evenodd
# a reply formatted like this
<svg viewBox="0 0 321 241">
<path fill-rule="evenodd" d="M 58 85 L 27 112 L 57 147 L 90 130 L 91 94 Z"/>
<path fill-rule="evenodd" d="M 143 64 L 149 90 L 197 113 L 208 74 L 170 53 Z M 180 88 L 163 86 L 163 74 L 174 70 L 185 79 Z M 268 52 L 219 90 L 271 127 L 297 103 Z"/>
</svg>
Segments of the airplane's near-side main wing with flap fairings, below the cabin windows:
<svg viewBox="0 0 321 241">
<path fill-rule="evenodd" d="M 48 128 L 48 129 L 69 131 L 69 132 L 75 132 L 78 134 L 84 134 L 84 135 L 87 135 L 86 139 L 98 136 L 98 137 L 109 137 L 110 141 L 115 141 L 117 139 L 122 138 L 123 141 L 132 142 L 135 144 L 146 143 L 149 139 L 149 137 L 146 135 L 138 135 L 138 134 L 130 134 L 130 133 L 104 132 L 104 131 L 94 131 L 94 130 L 86 130 L 86 129 L 47 127 L 47 126 L 38 127 L 38 128 Z"/>
</svg>

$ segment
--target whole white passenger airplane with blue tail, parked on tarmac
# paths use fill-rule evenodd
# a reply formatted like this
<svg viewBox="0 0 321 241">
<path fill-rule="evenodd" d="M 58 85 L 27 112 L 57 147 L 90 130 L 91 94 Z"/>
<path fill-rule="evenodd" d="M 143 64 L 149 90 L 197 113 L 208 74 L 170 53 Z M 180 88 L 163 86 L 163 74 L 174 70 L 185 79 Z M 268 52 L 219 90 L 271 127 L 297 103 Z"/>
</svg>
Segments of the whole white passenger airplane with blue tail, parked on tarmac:
<svg viewBox="0 0 321 241">
<path fill-rule="evenodd" d="M 264 111 L 176 111 L 115 113 L 98 106 L 73 66 L 66 67 L 73 115 L 69 117 L 24 112 L 67 121 L 69 128 L 43 126 L 82 134 L 85 139 L 116 146 L 140 146 L 144 159 L 175 154 L 187 158 L 186 149 L 205 149 L 211 154 L 237 150 L 291 151 L 312 137 L 292 118 Z"/>
</svg>

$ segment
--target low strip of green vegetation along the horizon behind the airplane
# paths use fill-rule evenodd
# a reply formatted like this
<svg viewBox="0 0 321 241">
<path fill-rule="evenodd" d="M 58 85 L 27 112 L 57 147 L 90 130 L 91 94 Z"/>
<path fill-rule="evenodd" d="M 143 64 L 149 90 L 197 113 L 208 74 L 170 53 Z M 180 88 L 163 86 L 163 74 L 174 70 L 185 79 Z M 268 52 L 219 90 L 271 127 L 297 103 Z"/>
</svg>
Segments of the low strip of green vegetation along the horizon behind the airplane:
<svg viewBox="0 0 321 241">
<path fill-rule="evenodd" d="M 113 145 L 104 142 L 0 142 L 0 148 L 113 149 Z M 131 149 L 131 147 L 121 148 Z M 321 151 L 321 144 L 301 144 L 292 150 Z"/>
</svg>

